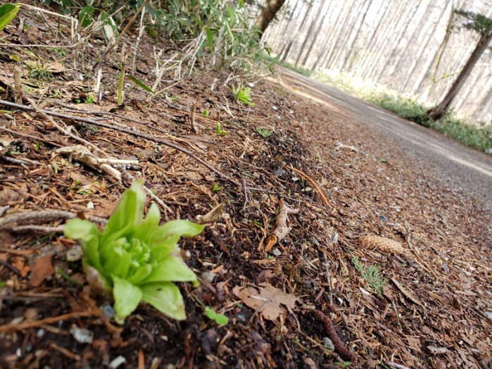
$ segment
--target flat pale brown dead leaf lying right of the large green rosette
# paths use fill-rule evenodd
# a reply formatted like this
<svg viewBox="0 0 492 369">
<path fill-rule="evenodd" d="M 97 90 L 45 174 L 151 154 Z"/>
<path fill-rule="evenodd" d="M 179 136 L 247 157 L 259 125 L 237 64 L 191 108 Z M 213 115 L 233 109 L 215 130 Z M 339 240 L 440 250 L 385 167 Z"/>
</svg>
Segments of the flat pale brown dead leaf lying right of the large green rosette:
<svg viewBox="0 0 492 369">
<path fill-rule="evenodd" d="M 268 320 L 276 320 L 280 315 L 285 315 L 285 309 L 282 305 L 286 306 L 289 313 L 292 313 L 292 308 L 297 301 L 297 297 L 293 294 L 286 294 L 282 289 L 267 283 L 260 284 L 260 287 L 244 287 L 242 289 L 236 286 L 232 292 L 244 304 L 258 311 Z"/>
</svg>

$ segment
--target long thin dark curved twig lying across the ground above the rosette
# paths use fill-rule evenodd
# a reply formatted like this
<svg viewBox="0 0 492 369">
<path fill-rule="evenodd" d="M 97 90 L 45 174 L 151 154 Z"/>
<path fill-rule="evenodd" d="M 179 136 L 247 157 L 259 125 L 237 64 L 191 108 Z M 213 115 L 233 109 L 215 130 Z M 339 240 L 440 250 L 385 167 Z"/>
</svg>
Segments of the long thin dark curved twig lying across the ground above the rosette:
<svg viewBox="0 0 492 369">
<path fill-rule="evenodd" d="M 0 105 L 11 106 L 13 108 L 20 108 L 20 109 L 24 109 L 24 110 L 28 110 L 28 111 L 35 110 L 31 106 L 22 105 L 22 104 L 15 104 L 15 103 L 11 103 L 10 101 L 5 101 L 5 100 L 0 100 Z M 217 170 L 217 169 L 213 168 L 212 165 L 208 164 L 203 159 L 198 158 L 198 156 L 196 156 L 195 154 L 193 154 L 191 151 L 189 151 L 187 149 L 184 149 L 183 147 L 181 147 L 181 146 L 179 146 L 177 144 L 173 144 L 172 142 L 169 142 L 169 141 L 167 141 L 165 139 L 160 139 L 158 137 L 153 137 L 151 135 L 146 135 L 146 134 L 140 133 L 140 132 L 134 132 L 132 130 L 127 130 L 126 128 L 115 127 L 114 125 L 109 125 L 109 124 L 106 124 L 106 123 L 101 123 L 101 122 L 98 122 L 97 120 L 94 120 L 94 119 L 88 119 L 88 118 L 77 117 L 75 115 L 67 115 L 67 114 L 57 113 L 55 111 L 46 111 L 46 110 L 43 110 L 42 112 L 45 113 L 46 115 L 53 115 L 53 116 L 55 116 L 57 118 L 65 118 L 65 119 L 76 120 L 76 121 L 79 121 L 79 122 L 90 123 L 90 124 L 93 124 L 93 125 L 99 125 L 100 127 L 105 127 L 105 128 L 110 129 L 110 130 L 116 130 L 116 131 L 120 131 L 120 132 L 125 132 L 128 135 L 133 135 L 133 136 L 136 136 L 136 137 L 141 137 L 141 138 L 144 138 L 144 139 L 148 139 L 149 141 L 152 141 L 152 142 L 157 142 L 158 144 L 163 144 L 165 146 L 172 147 L 172 149 L 176 149 L 178 151 L 182 151 L 184 154 L 187 154 L 189 157 L 191 157 L 194 160 L 198 161 L 198 163 L 201 163 L 206 168 L 212 170 L 213 173 L 215 173 L 217 175 L 220 175 L 220 177 L 225 178 L 229 182 L 232 182 L 232 183 L 236 184 L 236 186 L 238 186 L 238 187 L 241 187 L 241 184 L 238 181 L 236 181 L 233 178 L 229 177 L 228 175 L 222 173 L 220 170 Z M 77 137 L 77 139 L 78 139 L 78 137 Z M 94 146 L 92 144 L 90 144 L 90 145 L 91 146 Z"/>
</svg>

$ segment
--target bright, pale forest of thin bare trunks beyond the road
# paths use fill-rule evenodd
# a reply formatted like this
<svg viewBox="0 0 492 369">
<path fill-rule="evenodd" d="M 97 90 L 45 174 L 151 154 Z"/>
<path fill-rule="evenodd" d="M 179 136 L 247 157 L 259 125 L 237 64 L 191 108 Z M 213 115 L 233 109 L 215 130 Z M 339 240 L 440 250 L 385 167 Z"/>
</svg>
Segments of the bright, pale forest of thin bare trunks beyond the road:
<svg viewBox="0 0 492 369">
<path fill-rule="evenodd" d="M 487 1 L 287 0 L 263 40 L 280 61 L 336 70 L 437 104 L 477 44 L 453 10 L 482 13 Z M 491 50 L 453 101 L 456 113 L 492 122 Z"/>
</svg>

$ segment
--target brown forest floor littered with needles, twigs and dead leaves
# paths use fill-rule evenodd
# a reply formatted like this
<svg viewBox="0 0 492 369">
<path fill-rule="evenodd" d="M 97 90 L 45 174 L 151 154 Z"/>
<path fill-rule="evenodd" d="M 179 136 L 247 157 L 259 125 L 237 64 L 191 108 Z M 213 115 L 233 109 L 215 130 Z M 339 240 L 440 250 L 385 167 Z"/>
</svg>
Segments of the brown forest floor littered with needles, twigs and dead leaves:
<svg viewBox="0 0 492 369">
<path fill-rule="evenodd" d="M 0 37 L 56 42 L 30 22 L 29 33 L 14 21 Z M 94 52 L 103 41 L 92 43 Z M 153 46 L 145 36 L 137 59 L 149 85 Z M 168 81 L 168 99 L 133 85 L 117 106 L 111 58 L 108 94 L 80 104 L 93 82 L 79 80 L 70 54 L 53 79 L 39 80 L 27 61 L 60 56 L 25 51 L 8 54 L 22 61 L 26 106 L 30 97 L 64 118 L 2 106 L 11 112 L 0 118 L 0 368 L 491 367 L 491 211 L 356 115 L 275 79 L 257 82 L 256 106 L 246 106 L 224 85 L 227 74 L 210 70 Z M 15 63 L 2 55 L 1 99 L 13 101 Z M 138 163 L 118 166 L 118 182 L 56 151 L 80 144 L 69 132 L 94 155 Z M 197 288 L 179 284 L 182 322 L 141 304 L 117 325 L 111 301 L 87 288 L 77 244 L 60 232 L 63 211 L 108 218 L 137 177 L 168 219 L 195 220 L 226 201 L 222 220 L 180 242 L 201 277 Z M 281 200 L 298 212 L 268 249 Z M 217 326 L 197 299 L 229 323 Z"/>
</svg>

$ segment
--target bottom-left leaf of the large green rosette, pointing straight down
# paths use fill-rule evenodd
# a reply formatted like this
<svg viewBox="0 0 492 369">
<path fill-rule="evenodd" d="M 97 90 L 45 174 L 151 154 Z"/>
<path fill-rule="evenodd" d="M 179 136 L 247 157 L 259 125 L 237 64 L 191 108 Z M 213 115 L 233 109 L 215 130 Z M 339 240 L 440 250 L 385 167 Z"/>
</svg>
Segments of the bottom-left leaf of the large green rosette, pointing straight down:
<svg viewBox="0 0 492 369">
<path fill-rule="evenodd" d="M 144 293 L 137 286 L 119 277 L 113 277 L 113 299 L 116 321 L 122 323 L 139 306 Z"/>
</svg>

